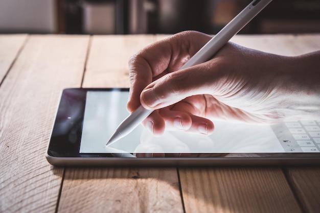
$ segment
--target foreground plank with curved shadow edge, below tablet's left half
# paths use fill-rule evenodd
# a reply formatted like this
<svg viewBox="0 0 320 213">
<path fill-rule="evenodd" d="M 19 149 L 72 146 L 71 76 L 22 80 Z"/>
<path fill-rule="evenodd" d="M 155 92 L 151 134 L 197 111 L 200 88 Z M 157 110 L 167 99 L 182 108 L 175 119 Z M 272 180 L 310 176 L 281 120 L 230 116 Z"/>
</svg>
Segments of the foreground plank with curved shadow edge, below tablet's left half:
<svg viewBox="0 0 320 213">
<path fill-rule="evenodd" d="M 176 169 L 67 168 L 58 212 L 182 212 Z"/>
</svg>

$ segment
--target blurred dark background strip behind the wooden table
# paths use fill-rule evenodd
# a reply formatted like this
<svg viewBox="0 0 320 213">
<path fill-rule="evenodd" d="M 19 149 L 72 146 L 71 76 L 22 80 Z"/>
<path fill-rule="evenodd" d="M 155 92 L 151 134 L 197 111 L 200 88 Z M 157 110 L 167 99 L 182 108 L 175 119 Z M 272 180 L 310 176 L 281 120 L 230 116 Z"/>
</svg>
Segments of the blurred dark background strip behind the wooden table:
<svg viewBox="0 0 320 213">
<path fill-rule="evenodd" d="M 0 33 L 217 33 L 247 0 L 1 0 Z M 319 0 L 273 0 L 240 33 L 320 33 Z"/>
</svg>

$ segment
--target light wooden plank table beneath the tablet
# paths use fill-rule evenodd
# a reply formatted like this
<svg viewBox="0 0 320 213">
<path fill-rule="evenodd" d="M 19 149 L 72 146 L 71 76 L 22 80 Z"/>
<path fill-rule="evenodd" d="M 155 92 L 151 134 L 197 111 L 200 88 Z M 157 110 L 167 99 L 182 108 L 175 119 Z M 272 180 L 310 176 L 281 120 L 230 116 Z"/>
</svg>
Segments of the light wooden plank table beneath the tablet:
<svg viewBox="0 0 320 213">
<path fill-rule="evenodd" d="M 61 90 L 128 87 L 128 58 L 164 35 L 0 36 L 0 212 L 320 212 L 320 167 L 57 168 L 44 153 Z M 318 35 L 236 36 L 283 55 Z"/>
</svg>

